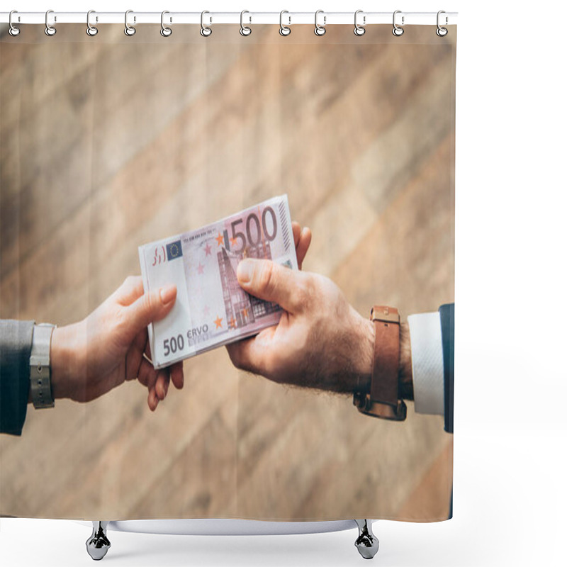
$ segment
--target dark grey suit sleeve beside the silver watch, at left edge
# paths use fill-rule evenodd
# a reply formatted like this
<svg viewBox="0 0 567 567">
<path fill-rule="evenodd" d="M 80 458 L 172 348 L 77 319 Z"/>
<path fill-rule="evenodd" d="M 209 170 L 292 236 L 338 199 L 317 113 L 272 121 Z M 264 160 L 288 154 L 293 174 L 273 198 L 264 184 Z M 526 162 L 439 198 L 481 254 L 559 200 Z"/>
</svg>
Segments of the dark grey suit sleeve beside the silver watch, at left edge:
<svg viewBox="0 0 567 567">
<path fill-rule="evenodd" d="M 0 433 L 21 435 L 26 421 L 33 325 L 0 320 Z"/>
</svg>

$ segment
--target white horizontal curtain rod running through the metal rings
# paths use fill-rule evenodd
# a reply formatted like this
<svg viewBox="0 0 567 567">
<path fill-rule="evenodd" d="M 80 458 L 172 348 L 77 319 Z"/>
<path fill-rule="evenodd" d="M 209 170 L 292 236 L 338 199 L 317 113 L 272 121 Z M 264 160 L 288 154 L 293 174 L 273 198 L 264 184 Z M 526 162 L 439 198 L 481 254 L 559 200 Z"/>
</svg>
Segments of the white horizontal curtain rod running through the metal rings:
<svg viewBox="0 0 567 567">
<path fill-rule="evenodd" d="M 9 22 L 9 12 L 0 12 L 0 22 Z M 357 22 L 360 26 L 368 26 L 378 23 L 393 23 L 393 12 L 365 12 L 358 11 Z M 293 24 L 314 24 L 315 12 L 249 12 L 245 11 L 242 15 L 240 12 L 206 12 L 204 15 L 204 23 L 207 25 L 215 23 L 273 23 L 279 24 L 280 17 L 284 26 L 293 26 Z M 439 24 L 441 26 L 456 25 L 456 12 L 443 12 L 439 16 Z M 37 23 L 45 25 L 45 12 L 18 12 L 12 14 L 12 23 L 18 25 L 21 23 Z M 351 23 L 354 24 L 354 11 L 352 12 L 318 12 L 318 23 L 320 26 Z M 86 12 L 57 12 L 50 11 L 48 14 L 48 22 L 50 26 L 56 26 L 58 23 L 85 23 Z M 91 26 L 100 23 L 124 23 L 124 12 L 96 12 L 91 11 L 89 16 Z M 128 23 L 135 25 L 139 23 L 161 23 L 161 12 L 137 12 L 129 11 Z M 201 23 L 201 12 L 168 12 L 164 16 L 164 23 L 169 25 L 181 23 Z M 395 12 L 395 23 L 398 26 L 435 26 L 437 25 L 437 12 L 404 12 L 397 10 Z"/>
</svg>

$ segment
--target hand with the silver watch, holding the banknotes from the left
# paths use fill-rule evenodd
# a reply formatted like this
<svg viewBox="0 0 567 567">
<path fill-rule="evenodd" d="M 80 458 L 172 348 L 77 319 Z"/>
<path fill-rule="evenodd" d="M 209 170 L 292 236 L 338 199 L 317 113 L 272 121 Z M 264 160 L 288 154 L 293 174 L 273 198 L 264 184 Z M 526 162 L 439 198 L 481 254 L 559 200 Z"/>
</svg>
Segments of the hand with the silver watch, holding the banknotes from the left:
<svg viewBox="0 0 567 567">
<path fill-rule="evenodd" d="M 157 408 L 169 380 L 183 387 L 183 364 L 155 370 L 150 357 L 147 325 L 172 309 L 177 290 L 166 286 L 144 294 L 142 278 L 130 276 L 86 319 L 53 330 L 51 374 L 54 398 L 89 402 L 137 378 L 147 386 L 147 405 Z"/>
</svg>

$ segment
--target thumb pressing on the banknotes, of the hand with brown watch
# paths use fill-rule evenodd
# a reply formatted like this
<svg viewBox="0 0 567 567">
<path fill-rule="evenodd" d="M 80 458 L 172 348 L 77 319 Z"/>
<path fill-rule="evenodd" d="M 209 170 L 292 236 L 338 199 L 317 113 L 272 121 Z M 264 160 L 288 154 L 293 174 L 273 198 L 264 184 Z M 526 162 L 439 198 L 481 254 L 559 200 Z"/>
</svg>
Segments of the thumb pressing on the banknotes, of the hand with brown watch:
<svg viewBox="0 0 567 567">
<path fill-rule="evenodd" d="M 265 301 L 274 301 L 288 311 L 301 310 L 305 298 L 305 274 L 271 260 L 244 259 L 237 268 L 238 283 L 245 291 Z"/>
</svg>

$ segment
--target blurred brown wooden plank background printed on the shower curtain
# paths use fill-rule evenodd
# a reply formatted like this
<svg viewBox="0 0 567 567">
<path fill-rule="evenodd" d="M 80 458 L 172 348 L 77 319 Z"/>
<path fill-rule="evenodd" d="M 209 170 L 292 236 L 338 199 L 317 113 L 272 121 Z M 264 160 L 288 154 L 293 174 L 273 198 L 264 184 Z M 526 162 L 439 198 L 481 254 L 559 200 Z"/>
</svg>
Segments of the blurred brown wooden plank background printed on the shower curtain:
<svg viewBox="0 0 567 567">
<path fill-rule="evenodd" d="M 327 276 L 365 318 L 454 301 L 456 27 L 21 26 L 0 42 L 1 319 L 82 320 L 137 247 L 286 193 Z M 452 434 L 352 395 L 184 361 L 155 412 L 129 381 L 28 405 L 0 435 L 0 514 L 86 520 L 445 520 Z M 4 378 L 3 378 L 4 379 Z"/>
</svg>

